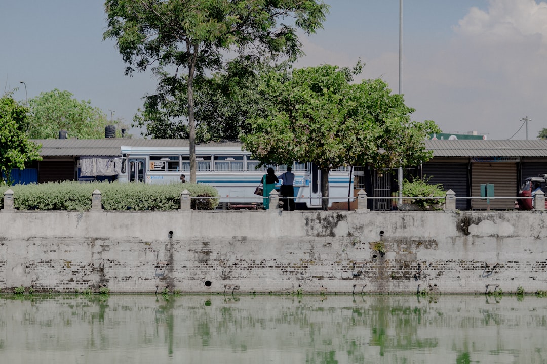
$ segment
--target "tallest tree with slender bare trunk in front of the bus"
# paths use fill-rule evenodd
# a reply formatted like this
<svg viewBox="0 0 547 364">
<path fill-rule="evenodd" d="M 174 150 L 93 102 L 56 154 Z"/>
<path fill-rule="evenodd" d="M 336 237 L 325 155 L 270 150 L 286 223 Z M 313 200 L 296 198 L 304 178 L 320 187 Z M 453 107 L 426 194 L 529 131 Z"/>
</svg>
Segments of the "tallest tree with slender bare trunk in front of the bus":
<svg viewBox="0 0 547 364">
<path fill-rule="evenodd" d="M 311 34 L 321 28 L 328 5 L 321 0 L 107 0 L 105 9 L 104 39 L 117 40 L 129 64 L 126 74 L 152 64 L 160 79 L 187 70 L 190 182 L 195 182 L 195 76 L 222 70 L 234 51 L 296 58 L 298 29 Z"/>
</svg>

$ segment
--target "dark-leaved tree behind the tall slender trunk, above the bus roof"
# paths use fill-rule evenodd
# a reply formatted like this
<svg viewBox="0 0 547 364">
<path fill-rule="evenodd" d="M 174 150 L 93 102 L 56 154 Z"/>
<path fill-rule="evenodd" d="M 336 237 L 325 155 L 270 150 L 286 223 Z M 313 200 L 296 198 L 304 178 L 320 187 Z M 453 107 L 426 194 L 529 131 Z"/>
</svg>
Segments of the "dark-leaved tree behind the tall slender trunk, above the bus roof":
<svg viewBox="0 0 547 364">
<path fill-rule="evenodd" d="M 226 63 L 226 71 L 194 80 L 196 142 L 235 140 L 248 130 L 246 120 L 269 112 L 271 100 L 258 92 L 260 75 L 282 71 L 290 64 L 236 58 Z M 155 139 L 188 139 L 188 97 L 186 77 L 161 77 L 155 94 L 144 98 L 144 108 L 133 118 L 141 135 Z M 176 90 L 176 92 L 173 92 Z"/>
</svg>

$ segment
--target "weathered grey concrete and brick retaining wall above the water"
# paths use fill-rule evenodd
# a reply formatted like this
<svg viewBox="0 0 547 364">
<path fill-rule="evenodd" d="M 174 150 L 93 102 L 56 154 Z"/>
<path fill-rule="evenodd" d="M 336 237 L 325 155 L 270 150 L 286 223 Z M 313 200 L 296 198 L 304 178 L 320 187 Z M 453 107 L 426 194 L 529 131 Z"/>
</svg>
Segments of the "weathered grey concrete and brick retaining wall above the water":
<svg viewBox="0 0 547 364">
<path fill-rule="evenodd" d="M 4 210 L 0 288 L 547 291 L 546 221 L 522 211 Z"/>
</svg>

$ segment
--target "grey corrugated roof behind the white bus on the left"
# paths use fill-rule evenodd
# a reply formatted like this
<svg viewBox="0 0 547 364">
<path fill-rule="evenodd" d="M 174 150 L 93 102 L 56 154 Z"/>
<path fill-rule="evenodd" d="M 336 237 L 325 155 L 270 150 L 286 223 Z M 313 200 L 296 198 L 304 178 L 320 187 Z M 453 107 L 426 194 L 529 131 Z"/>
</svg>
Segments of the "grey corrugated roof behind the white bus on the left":
<svg viewBox="0 0 547 364">
<path fill-rule="evenodd" d="M 40 156 L 119 156 L 122 145 L 138 147 L 188 147 L 187 139 L 32 139 L 42 144 Z M 241 146 L 241 142 L 211 142 L 207 146 Z"/>
</svg>

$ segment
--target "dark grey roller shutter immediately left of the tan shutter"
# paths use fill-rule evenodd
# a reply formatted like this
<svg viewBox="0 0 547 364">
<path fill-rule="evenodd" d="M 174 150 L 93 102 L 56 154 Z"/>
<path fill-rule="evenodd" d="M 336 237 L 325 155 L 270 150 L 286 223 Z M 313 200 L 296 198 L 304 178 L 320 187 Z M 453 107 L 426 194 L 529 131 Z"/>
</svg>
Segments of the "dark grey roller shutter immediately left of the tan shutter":
<svg viewBox="0 0 547 364">
<path fill-rule="evenodd" d="M 424 163 L 423 176 L 431 177 L 429 183 L 443 185 L 445 191 L 451 189 L 456 193 L 456 208 L 469 210 L 469 199 L 458 199 L 458 196 L 469 196 L 468 163 Z"/>
</svg>

